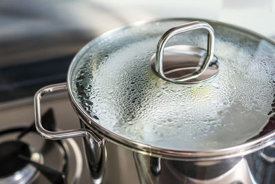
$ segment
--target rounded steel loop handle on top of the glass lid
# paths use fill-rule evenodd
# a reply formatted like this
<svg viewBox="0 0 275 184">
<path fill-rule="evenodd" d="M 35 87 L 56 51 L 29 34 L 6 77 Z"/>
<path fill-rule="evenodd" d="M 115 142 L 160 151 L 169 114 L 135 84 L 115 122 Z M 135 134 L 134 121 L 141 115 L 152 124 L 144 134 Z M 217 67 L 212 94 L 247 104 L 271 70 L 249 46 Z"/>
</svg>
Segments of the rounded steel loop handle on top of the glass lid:
<svg viewBox="0 0 275 184">
<path fill-rule="evenodd" d="M 182 32 L 188 32 L 190 30 L 197 30 L 197 29 L 205 29 L 208 32 L 208 44 L 207 44 L 207 56 L 204 59 L 203 63 L 200 65 L 199 69 L 195 72 L 192 72 L 190 74 L 186 74 L 182 76 L 179 79 L 170 79 L 164 74 L 163 69 L 163 58 L 164 58 L 164 47 L 167 43 L 167 41 L 175 36 L 176 34 L 182 33 Z M 183 25 L 178 25 L 174 28 L 170 28 L 170 30 L 166 31 L 162 37 L 159 39 L 159 42 L 157 43 L 157 51 L 155 54 L 155 72 L 159 74 L 160 77 L 163 79 L 174 82 L 174 83 L 186 83 L 186 81 L 190 81 L 192 79 L 196 79 L 198 76 L 200 76 L 206 68 L 208 68 L 208 65 L 210 61 L 212 61 L 214 56 L 214 30 L 206 22 L 203 21 L 193 21 L 190 23 L 185 23 Z M 187 82 L 188 83 L 188 82 Z"/>
</svg>

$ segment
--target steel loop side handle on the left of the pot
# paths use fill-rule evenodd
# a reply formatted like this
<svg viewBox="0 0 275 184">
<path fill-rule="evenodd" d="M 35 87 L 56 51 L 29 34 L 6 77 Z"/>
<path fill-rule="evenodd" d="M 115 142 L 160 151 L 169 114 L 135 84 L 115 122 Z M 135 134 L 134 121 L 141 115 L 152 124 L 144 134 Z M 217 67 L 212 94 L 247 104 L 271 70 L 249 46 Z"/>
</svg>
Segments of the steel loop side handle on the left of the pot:
<svg viewBox="0 0 275 184">
<path fill-rule="evenodd" d="M 37 132 L 41 136 L 43 136 L 45 139 L 51 139 L 51 140 L 60 140 L 60 139 L 67 139 L 72 138 L 75 136 L 85 136 L 88 139 L 92 139 L 89 142 L 92 143 L 93 141 L 96 142 L 98 147 L 101 147 L 104 145 L 104 139 L 100 139 L 94 132 L 91 132 L 91 130 L 87 129 L 75 129 L 75 130 L 64 130 L 64 131 L 57 131 L 57 132 L 51 132 L 48 130 L 45 130 L 41 123 L 41 99 L 44 94 L 49 94 L 52 92 L 58 92 L 67 90 L 67 83 L 58 83 L 54 85 L 47 85 L 44 88 L 41 88 L 36 92 L 34 95 L 34 116 L 35 116 L 35 126 Z"/>
</svg>

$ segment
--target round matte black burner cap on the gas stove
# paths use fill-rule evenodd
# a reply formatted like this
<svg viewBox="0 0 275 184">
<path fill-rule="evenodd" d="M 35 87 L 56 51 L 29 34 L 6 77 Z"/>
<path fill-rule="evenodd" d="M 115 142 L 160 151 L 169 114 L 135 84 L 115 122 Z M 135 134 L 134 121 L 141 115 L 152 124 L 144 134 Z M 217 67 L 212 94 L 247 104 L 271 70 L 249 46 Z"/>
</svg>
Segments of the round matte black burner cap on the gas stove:
<svg viewBox="0 0 275 184">
<path fill-rule="evenodd" d="M 6 141 L 0 143 L 0 150 L 0 178 L 8 177 L 28 165 L 28 161 L 19 157 L 23 155 L 30 159 L 30 148 L 27 143 Z"/>
</svg>

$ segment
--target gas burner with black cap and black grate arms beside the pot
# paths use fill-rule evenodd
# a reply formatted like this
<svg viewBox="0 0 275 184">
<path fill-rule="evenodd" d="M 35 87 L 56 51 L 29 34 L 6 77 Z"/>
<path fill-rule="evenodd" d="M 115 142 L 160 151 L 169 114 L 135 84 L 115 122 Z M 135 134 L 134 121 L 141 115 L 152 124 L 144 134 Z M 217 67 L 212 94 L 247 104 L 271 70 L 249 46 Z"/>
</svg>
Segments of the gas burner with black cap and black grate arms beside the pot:
<svg viewBox="0 0 275 184">
<path fill-rule="evenodd" d="M 43 119 L 47 124 L 47 130 L 53 131 L 55 129 L 55 121 L 52 109 L 45 112 Z M 55 141 L 64 151 L 63 170 L 58 171 L 52 167 L 47 167 L 46 165 L 43 165 L 42 154 L 36 152 L 33 147 L 30 147 L 32 145 L 21 141 L 23 136 L 29 132 L 35 131 L 34 123 L 28 127 L 11 127 L 0 131 L 0 136 L 12 132 L 19 132 L 19 135 L 15 140 L 5 140 L 0 143 L 0 184 L 32 183 L 39 173 L 43 174 L 50 183 L 67 183 L 65 173 L 67 173 L 68 156 L 66 152 L 67 148 L 64 147 L 64 144 L 66 145 L 66 143 Z M 78 152 L 77 149 L 74 151 Z M 80 165 L 82 166 L 82 162 L 80 162 Z"/>
</svg>

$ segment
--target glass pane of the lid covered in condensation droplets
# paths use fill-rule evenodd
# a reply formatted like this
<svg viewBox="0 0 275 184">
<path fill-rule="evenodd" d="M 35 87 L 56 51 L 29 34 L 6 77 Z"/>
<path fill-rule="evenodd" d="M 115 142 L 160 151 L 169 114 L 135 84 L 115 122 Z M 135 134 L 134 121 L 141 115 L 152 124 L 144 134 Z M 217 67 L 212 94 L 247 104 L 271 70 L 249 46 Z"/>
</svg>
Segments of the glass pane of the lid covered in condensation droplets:
<svg viewBox="0 0 275 184">
<path fill-rule="evenodd" d="M 159 37 L 180 23 L 146 23 L 91 42 L 70 84 L 83 110 L 115 134 L 176 150 L 231 147 L 272 131 L 265 127 L 274 115 L 275 46 L 214 24 L 219 74 L 203 83 L 170 83 L 149 62 Z M 168 41 L 182 43 L 204 48 L 206 35 L 194 31 Z"/>
</svg>

